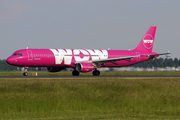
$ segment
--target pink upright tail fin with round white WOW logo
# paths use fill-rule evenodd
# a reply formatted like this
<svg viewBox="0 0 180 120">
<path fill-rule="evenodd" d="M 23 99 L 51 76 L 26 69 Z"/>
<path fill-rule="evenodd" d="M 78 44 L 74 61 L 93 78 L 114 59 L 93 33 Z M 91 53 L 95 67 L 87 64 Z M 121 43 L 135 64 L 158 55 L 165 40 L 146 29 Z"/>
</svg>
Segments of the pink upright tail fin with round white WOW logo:
<svg viewBox="0 0 180 120">
<path fill-rule="evenodd" d="M 134 50 L 152 52 L 155 32 L 156 26 L 151 26 Z"/>
</svg>

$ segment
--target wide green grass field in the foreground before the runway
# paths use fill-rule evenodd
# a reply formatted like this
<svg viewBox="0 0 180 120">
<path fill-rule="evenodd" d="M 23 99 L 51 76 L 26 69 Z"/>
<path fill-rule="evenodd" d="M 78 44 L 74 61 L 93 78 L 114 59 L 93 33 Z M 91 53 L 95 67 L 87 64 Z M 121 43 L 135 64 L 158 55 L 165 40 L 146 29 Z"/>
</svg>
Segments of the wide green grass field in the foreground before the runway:
<svg viewBox="0 0 180 120">
<path fill-rule="evenodd" d="M 180 119 L 180 78 L 0 79 L 0 119 Z"/>
</svg>

